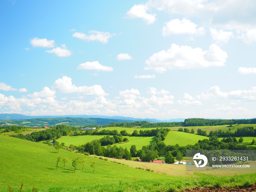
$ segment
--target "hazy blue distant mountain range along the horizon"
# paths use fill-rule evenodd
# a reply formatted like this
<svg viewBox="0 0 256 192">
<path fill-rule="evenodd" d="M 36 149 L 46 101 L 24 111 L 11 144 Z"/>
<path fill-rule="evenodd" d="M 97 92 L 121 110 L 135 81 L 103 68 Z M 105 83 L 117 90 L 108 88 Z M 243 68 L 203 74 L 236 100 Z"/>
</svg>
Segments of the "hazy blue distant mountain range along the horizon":
<svg viewBox="0 0 256 192">
<path fill-rule="evenodd" d="M 63 115 L 63 116 L 27 116 L 16 113 L 3 113 L 0 114 L 0 120 L 27 120 L 34 118 L 59 118 L 59 117 L 72 117 L 72 118 L 104 118 L 104 119 L 116 119 L 122 120 L 123 122 L 134 122 L 134 121 L 148 121 L 151 123 L 161 123 L 161 122 L 184 122 L 185 118 L 175 118 L 169 120 L 159 120 L 159 119 L 151 119 L 151 118 L 133 118 L 133 117 L 124 117 L 124 116 L 103 116 L 103 115 Z"/>
</svg>

